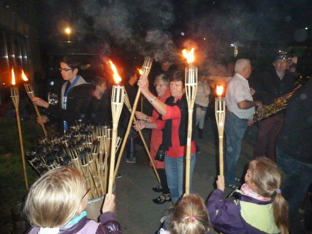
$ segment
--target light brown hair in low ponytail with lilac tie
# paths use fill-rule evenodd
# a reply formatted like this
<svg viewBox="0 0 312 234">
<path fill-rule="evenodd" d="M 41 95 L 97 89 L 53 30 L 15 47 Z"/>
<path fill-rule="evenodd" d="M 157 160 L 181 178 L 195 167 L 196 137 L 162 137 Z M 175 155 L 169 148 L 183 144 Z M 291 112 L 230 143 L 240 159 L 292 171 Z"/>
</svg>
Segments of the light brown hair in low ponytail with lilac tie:
<svg viewBox="0 0 312 234">
<path fill-rule="evenodd" d="M 269 158 L 259 157 L 249 163 L 251 182 L 255 183 L 263 197 L 271 197 L 273 216 L 276 226 L 282 234 L 288 234 L 288 203 L 281 193 L 282 173 L 277 164 Z"/>
</svg>

